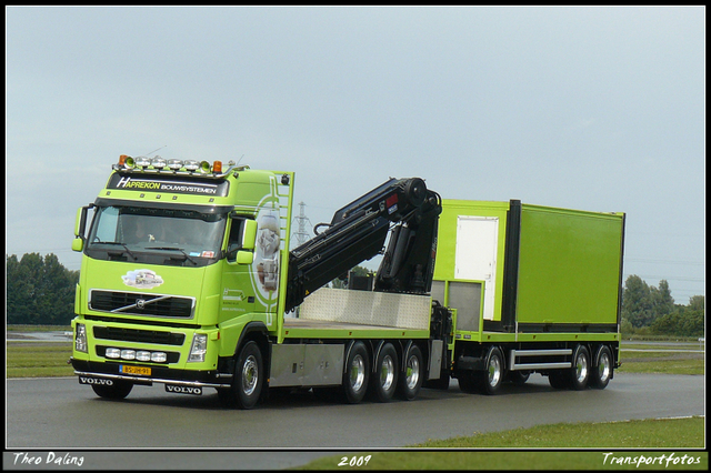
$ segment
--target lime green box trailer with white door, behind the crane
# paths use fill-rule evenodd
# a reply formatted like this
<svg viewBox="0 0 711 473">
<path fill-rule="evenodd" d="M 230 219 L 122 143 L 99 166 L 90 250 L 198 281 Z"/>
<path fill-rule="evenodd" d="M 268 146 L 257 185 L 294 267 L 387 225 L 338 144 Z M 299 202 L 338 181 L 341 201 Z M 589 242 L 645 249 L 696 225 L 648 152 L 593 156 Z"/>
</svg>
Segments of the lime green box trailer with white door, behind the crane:
<svg viewBox="0 0 711 473">
<path fill-rule="evenodd" d="M 442 209 L 432 296 L 455 311 L 449 354 L 460 385 L 485 384 L 471 373 L 491 369 L 492 350 L 509 373 L 565 384 L 580 346 L 584 383 L 600 369 L 607 384 L 619 363 L 624 214 L 515 200 Z M 602 366 L 601 354 L 611 358 Z"/>
</svg>

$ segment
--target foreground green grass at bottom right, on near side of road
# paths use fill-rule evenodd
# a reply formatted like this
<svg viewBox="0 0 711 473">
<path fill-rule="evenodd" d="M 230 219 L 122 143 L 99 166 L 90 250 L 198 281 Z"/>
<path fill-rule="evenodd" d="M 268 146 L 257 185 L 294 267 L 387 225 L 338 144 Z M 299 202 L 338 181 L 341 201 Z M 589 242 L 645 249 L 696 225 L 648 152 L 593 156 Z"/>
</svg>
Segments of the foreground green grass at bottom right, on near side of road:
<svg viewBox="0 0 711 473">
<path fill-rule="evenodd" d="M 708 470 L 704 417 L 612 423 L 551 424 L 429 441 L 405 451 L 356 452 L 316 460 L 293 470 Z M 437 449 L 433 452 L 423 449 Z M 450 450 L 447 449 L 460 449 Z M 469 451 L 462 451 L 468 449 Z M 489 450 L 483 450 L 489 449 Z M 518 449 L 491 451 L 491 449 Z M 537 450 L 549 449 L 549 450 Z M 559 449 L 551 451 L 550 449 Z M 575 449 L 561 450 L 561 449 Z M 580 451 L 600 449 L 599 451 Z M 635 449 L 625 451 L 625 449 Z M 639 451 L 637 449 L 645 449 Z M 664 449 L 664 450 L 649 450 Z M 605 460 L 605 453 L 608 455 Z M 673 453 L 669 464 L 662 455 Z M 362 466 L 339 466 L 342 459 Z M 693 464 L 681 465 L 692 459 Z M 644 462 L 637 464 L 640 457 Z M 654 460 L 658 459 L 658 460 Z M 673 463 L 678 459 L 678 463 Z M 698 463 L 695 463 L 698 459 Z M 652 462 L 657 462 L 652 464 Z M 628 464 L 623 462 L 629 462 Z"/>
</svg>

